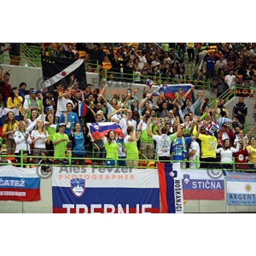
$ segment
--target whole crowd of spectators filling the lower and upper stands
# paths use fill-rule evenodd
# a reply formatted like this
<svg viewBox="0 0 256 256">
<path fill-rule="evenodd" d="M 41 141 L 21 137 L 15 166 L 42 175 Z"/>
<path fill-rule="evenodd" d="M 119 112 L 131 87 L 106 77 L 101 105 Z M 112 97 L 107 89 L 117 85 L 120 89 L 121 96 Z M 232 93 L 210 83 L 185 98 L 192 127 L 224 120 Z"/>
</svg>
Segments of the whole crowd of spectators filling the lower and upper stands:
<svg viewBox="0 0 256 256">
<path fill-rule="evenodd" d="M 98 44 L 91 47 L 85 44 L 58 45 L 58 54 L 54 51 L 52 54 L 77 58 L 74 47 L 76 50 L 84 47 L 82 49 L 89 53 L 91 60 L 98 60 L 100 64 L 106 58 L 102 45 Z M 119 73 L 123 69 L 124 74 L 129 74 L 129 70 L 136 70 L 150 74 L 153 82 L 162 73 L 168 84 L 169 79 L 177 78 L 182 82 L 188 76 L 183 60 L 169 43 L 161 46 L 139 44 L 139 50 L 120 45 L 115 55 L 112 46 L 108 47 L 107 57 L 113 72 Z M 180 44 L 180 48 L 187 52 L 190 62 L 198 65 L 193 75 L 194 84 L 204 75 L 208 78 L 224 76 L 228 86 L 232 85 L 232 77 L 236 82 L 255 81 L 255 44 L 217 44 L 215 52 L 209 55 L 200 49 L 196 55 L 195 44 Z M 232 169 L 235 157 L 236 168 L 256 169 L 256 138 L 251 136 L 256 125 L 245 134 L 247 105 L 242 96 L 239 96 L 233 112 L 229 113 L 224 107 L 224 99 L 217 100 L 211 108 L 205 92 L 195 94 L 193 85 L 186 92 L 180 87 L 172 99 L 163 93 L 153 97 L 145 86 L 142 99 L 137 96 L 139 88 L 136 88 L 133 94 L 117 91 L 112 99 L 107 100 L 107 82 L 97 93 L 93 93 L 94 88 L 87 84 L 85 93 L 79 90 L 79 81 L 71 76 L 67 88 L 58 83 L 46 91 L 34 88 L 26 91 L 26 82 L 21 82 L 19 87 L 9 84 L 11 74 L 11 69 L 3 73 L 0 67 L 0 106 L 9 109 L 1 131 L 2 163 L 10 163 L 4 154 L 15 154 L 20 162 L 22 149 L 26 156 L 23 159 L 25 165 L 31 163 L 29 155 L 34 156 L 32 163 L 35 165 L 48 163 L 48 156 L 60 164 L 67 163 L 71 153 L 74 159 L 80 158 L 73 163 L 80 165 L 84 164 L 82 158 L 93 157 L 93 165 L 114 166 L 117 161 L 120 166 L 138 166 L 139 159 L 148 160 L 148 164 L 149 160 L 157 159 L 175 160 L 183 167 L 196 168 L 198 158 L 200 168 L 220 162 L 224 169 Z M 140 79 L 137 81 L 141 82 Z M 81 102 L 86 105 L 84 115 L 79 113 Z M 100 126 L 107 122 L 111 122 L 109 125 L 118 124 L 124 137 L 110 128 L 106 136 L 99 135 L 93 141 L 87 123 Z"/>
</svg>

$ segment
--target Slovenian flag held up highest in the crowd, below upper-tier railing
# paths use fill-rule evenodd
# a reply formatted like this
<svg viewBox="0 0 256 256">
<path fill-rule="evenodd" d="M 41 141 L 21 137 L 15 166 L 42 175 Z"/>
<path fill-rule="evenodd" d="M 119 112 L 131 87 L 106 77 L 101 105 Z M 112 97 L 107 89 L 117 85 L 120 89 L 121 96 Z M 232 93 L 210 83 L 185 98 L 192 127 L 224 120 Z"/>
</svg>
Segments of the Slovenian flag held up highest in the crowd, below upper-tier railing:
<svg viewBox="0 0 256 256">
<path fill-rule="evenodd" d="M 152 96 L 159 96 L 163 93 L 168 99 L 174 99 L 175 93 L 179 93 L 180 88 L 182 89 L 181 96 L 185 95 L 186 92 L 192 87 L 192 84 L 163 84 L 160 88 L 152 93 Z M 187 98 L 191 98 L 192 93 L 190 92 Z"/>
</svg>

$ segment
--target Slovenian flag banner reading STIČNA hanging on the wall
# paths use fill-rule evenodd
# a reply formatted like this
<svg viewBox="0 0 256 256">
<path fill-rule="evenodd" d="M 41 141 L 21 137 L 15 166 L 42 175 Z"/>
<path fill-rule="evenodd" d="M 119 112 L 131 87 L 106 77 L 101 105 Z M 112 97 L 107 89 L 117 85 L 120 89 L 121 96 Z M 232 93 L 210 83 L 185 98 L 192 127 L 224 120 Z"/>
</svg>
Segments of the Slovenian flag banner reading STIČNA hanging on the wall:
<svg viewBox="0 0 256 256">
<path fill-rule="evenodd" d="M 203 169 L 182 170 L 184 200 L 224 200 L 224 175 L 222 171 L 218 173 L 213 176 Z"/>
</svg>

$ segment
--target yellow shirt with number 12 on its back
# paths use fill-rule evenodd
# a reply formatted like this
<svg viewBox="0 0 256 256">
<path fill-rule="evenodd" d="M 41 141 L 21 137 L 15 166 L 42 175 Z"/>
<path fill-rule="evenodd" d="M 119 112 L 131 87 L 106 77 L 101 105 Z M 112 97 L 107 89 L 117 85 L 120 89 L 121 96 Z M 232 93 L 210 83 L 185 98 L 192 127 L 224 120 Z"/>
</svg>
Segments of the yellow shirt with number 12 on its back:
<svg viewBox="0 0 256 256">
<path fill-rule="evenodd" d="M 201 140 L 202 158 L 216 157 L 217 139 L 211 135 L 199 134 Z"/>
</svg>

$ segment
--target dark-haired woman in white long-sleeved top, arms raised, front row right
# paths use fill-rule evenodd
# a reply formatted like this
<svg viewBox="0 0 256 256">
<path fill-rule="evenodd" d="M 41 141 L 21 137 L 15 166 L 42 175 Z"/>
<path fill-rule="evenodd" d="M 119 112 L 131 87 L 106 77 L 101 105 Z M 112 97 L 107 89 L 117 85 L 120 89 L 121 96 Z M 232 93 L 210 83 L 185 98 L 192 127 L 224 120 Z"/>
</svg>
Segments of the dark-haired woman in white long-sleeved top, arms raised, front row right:
<svg viewBox="0 0 256 256">
<path fill-rule="evenodd" d="M 221 154 L 221 163 L 223 163 L 224 169 L 233 169 L 233 153 L 237 153 L 239 151 L 239 143 L 237 143 L 236 148 L 231 146 L 231 142 L 229 139 L 225 139 L 222 143 L 222 148 L 217 148 L 216 153 Z"/>
</svg>

